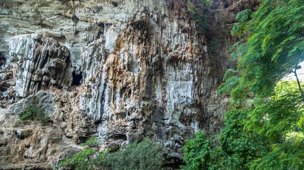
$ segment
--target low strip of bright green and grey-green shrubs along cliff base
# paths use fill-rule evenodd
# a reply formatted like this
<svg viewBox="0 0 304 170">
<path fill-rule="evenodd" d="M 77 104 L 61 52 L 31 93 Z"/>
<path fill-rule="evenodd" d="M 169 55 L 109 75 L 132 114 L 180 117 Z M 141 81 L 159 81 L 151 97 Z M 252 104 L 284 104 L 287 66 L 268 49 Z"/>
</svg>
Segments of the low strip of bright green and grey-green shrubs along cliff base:
<svg viewBox="0 0 304 170">
<path fill-rule="evenodd" d="M 85 144 L 92 144 L 97 138 L 88 140 Z M 92 145 L 91 145 L 92 146 Z M 98 146 L 98 145 L 97 145 Z M 99 152 L 99 148 L 86 148 L 72 157 L 63 158 L 59 167 L 73 169 L 107 169 L 107 170 L 133 170 L 133 169 L 162 169 L 164 156 L 161 144 L 144 138 L 141 142 L 127 144 L 125 148 L 110 153 L 109 149 Z"/>
</svg>

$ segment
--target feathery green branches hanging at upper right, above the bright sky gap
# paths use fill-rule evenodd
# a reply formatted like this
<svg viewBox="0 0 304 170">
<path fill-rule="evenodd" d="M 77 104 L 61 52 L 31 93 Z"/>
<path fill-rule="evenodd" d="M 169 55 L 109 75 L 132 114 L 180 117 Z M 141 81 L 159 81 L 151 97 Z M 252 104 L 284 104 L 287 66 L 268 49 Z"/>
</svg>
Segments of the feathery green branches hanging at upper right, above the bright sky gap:
<svg viewBox="0 0 304 170">
<path fill-rule="evenodd" d="M 303 0 L 264 0 L 251 15 L 245 10 L 237 16 L 239 22 L 232 34 L 242 35 L 243 42 L 248 39 L 247 48 L 238 56 L 239 86 L 246 87 L 245 91 L 260 97 L 270 96 L 276 83 L 304 60 L 302 11 Z M 246 21 L 248 16 L 252 19 Z"/>
</svg>

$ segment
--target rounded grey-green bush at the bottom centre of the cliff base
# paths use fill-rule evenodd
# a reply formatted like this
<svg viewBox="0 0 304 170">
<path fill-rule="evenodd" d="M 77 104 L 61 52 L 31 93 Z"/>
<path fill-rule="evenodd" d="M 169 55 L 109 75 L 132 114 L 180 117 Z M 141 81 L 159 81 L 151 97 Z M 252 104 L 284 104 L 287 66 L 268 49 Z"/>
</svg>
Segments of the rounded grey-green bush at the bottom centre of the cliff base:
<svg viewBox="0 0 304 170">
<path fill-rule="evenodd" d="M 109 155 L 106 160 L 106 169 L 162 169 L 164 161 L 162 149 L 162 145 L 144 138 L 140 143 L 128 144 L 125 149 Z"/>
</svg>

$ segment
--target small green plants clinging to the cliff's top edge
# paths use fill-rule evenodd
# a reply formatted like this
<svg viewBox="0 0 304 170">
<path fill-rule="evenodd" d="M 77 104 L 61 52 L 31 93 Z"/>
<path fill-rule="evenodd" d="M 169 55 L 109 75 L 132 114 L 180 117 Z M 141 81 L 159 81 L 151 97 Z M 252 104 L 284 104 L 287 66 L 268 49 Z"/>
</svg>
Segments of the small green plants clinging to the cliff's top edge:
<svg viewBox="0 0 304 170">
<path fill-rule="evenodd" d="M 187 7 L 188 11 L 191 12 L 191 19 L 198 26 L 198 31 L 200 33 L 206 32 L 209 27 L 209 21 L 205 9 L 211 7 L 210 0 L 188 0 Z"/>
</svg>

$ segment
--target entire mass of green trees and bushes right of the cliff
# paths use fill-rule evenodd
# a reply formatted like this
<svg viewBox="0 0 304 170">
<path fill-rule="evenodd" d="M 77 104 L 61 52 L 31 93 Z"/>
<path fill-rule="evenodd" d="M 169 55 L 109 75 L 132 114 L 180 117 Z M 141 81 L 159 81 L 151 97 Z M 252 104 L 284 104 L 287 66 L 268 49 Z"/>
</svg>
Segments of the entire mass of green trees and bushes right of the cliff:
<svg viewBox="0 0 304 170">
<path fill-rule="evenodd" d="M 236 17 L 238 69 L 226 71 L 219 94 L 231 111 L 219 136 L 198 132 L 183 147 L 183 169 L 303 169 L 304 0 L 262 0 Z M 292 80 L 286 76 L 293 74 Z"/>
</svg>

